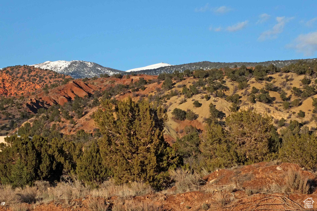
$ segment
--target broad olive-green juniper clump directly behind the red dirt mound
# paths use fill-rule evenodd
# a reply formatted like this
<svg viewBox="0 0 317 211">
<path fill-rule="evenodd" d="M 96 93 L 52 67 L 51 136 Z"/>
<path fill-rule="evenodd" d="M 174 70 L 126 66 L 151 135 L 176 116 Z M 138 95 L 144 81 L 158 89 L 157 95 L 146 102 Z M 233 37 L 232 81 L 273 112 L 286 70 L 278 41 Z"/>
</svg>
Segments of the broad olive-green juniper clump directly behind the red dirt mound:
<svg viewBox="0 0 317 211">
<path fill-rule="evenodd" d="M 261 162 L 278 149 L 279 137 L 267 116 L 236 112 L 226 118 L 226 126 L 229 130 L 214 123 L 206 126 L 199 149 L 209 169 Z"/>
</svg>

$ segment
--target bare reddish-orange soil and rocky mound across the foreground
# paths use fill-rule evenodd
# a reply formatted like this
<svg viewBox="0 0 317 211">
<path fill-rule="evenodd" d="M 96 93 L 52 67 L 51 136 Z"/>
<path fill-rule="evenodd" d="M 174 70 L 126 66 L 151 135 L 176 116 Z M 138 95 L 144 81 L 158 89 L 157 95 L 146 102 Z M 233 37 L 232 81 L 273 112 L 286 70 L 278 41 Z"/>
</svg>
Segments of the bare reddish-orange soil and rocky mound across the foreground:
<svg viewBox="0 0 317 211">
<path fill-rule="evenodd" d="M 292 172 L 300 174 L 290 178 Z M 306 180 L 310 188 L 297 189 L 299 179 Z M 262 162 L 231 169 L 216 169 L 201 178 L 202 185 L 198 191 L 179 193 L 177 185 L 169 190 L 135 197 L 111 197 L 105 200 L 109 207 L 116 204 L 150 204 L 157 210 L 317 210 L 305 208 L 307 198 L 317 200 L 315 173 L 308 172 L 292 163 Z M 304 181 L 305 182 L 305 181 Z M 33 210 L 70 211 L 92 210 L 89 208 L 91 196 L 68 202 L 51 201 L 48 204 L 27 205 Z M 317 202 L 316 202 L 317 203 Z M 0 211 L 12 210 L 0 207 Z M 145 210 L 145 209 L 133 209 Z M 151 209 L 152 210 L 152 209 Z M 13 210 L 15 211 L 15 210 Z"/>
</svg>

